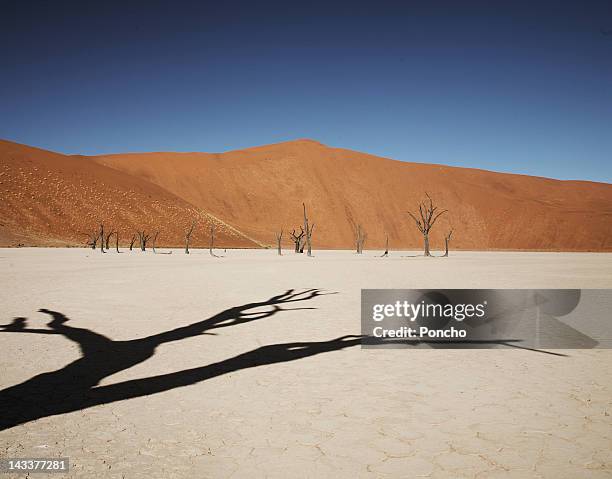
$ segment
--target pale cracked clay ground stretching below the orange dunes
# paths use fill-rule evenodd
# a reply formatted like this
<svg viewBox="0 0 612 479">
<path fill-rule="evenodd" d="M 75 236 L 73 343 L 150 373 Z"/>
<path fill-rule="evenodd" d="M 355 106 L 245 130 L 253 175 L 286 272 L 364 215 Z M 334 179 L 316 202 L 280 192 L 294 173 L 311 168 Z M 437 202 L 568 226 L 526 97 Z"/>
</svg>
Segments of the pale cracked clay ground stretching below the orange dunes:
<svg viewBox="0 0 612 479">
<path fill-rule="evenodd" d="M 612 255 L 406 256 L 0 250 L 0 457 L 69 457 L 68 477 L 612 477 L 612 350 L 337 339 L 360 333 L 361 288 L 610 288 Z"/>
</svg>

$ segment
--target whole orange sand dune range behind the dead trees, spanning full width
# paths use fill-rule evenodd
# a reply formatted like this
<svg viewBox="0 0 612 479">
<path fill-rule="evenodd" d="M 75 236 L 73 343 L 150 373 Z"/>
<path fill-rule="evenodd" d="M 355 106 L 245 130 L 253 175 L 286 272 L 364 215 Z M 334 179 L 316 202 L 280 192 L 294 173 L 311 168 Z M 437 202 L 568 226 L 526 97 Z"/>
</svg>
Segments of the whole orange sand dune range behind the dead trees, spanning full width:
<svg viewBox="0 0 612 479">
<path fill-rule="evenodd" d="M 312 140 L 92 158 L 0 142 L 0 168 L 5 245 L 79 243 L 100 220 L 126 237 L 160 229 L 161 244 L 180 245 L 200 217 L 195 244 L 214 221 L 220 246 L 256 247 L 297 228 L 305 202 L 316 248 L 352 248 L 357 224 L 366 247 L 388 234 L 391 248 L 414 248 L 421 238 L 407 211 L 427 191 L 449 210 L 434 248 L 452 226 L 455 248 L 612 251 L 612 185 L 399 162 Z"/>
</svg>

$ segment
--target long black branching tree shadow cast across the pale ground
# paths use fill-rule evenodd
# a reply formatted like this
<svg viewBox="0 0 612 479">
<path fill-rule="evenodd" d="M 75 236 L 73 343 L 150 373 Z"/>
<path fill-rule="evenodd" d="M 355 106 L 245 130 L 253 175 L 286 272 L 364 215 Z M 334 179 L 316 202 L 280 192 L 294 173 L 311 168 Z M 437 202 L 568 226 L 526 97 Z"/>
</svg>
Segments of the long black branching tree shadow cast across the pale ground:
<svg viewBox="0 0 612 479">
<path fill-rule="evenodd" d="M 47 323 L 49 328 L 29 328 L 26 318 L 15 318 L 11 324 L 1 326 L 2 332 L 59 334 L 76 342 L 82 356 L 61 369 L 39 374 L 0 391 L 0 430 L 47 416 L 168 391 L 241 369 L 293 361 L 360 344 L 360 336 L 343 336 L 321 342 L 273 344 L 202 367 L 98 386 L 104 378 L 146 361 L 161 344 L 210 334 L 207 331 L 268 318 L 281 311 L 315 309 L 284 306 L 323 294 L 330 293 L 317 289 L 302 292 L 288 290 L 266 301 L 226 309 L 188 326 L 128 341 L 113 341 L 89 329 L 70 326 L 65 315 L 48 309 L 40 311 L 51 316 L 51 321 Z M 258 311 L 261 308 L 266 309 Z"/>
</svg>

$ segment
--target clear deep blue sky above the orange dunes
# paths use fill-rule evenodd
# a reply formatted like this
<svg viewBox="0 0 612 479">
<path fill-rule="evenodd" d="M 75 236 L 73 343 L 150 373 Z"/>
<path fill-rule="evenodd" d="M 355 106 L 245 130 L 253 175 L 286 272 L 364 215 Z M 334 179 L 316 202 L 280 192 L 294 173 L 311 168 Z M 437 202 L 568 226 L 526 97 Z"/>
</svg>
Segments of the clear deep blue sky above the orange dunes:
<svg viewBox="0 0 612 479">
<path fill-rule="evenodd" d="M 0 137 L 612 182 L 612 2 L 0 0 Z"/>
</svg>

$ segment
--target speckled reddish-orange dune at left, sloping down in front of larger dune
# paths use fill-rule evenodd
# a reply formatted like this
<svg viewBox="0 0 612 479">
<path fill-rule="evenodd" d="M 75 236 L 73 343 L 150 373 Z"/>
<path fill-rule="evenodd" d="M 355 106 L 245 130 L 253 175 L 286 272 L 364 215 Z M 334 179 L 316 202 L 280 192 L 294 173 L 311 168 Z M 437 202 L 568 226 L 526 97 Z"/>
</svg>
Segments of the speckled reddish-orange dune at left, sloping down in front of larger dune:
<svg viewBox="0 0 612 479">
<path fill-rule="evenodd" d="M 208 244 L 214 219 L 171 192 L 146 180 L 99 165 L 0 141 L 0 245 L 84 244 L 87 233 L 104 222 L 129 243 L 138 229 L 160 231 L 158 244 L 181 245 L 184 230 L 198 218 L 192 244 Z M 218 222 L 216 222 L 218 223 Z M 218 225 L 218 243 L 256 246 Z"/>
</svg>

